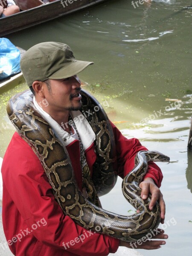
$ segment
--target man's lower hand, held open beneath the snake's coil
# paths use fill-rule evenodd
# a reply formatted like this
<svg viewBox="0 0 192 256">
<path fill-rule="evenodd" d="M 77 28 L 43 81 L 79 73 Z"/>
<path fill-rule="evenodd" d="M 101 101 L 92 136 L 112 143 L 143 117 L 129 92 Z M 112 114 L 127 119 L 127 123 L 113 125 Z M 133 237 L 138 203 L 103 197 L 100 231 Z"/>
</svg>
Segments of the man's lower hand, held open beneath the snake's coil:
<svg viewBox="0 0 192 256">
<path fill-rule="evenodd" d="M 164 234 L 164 230 L 157 229 L 159 233 L 156 236 L 153 236 L 152 239 L 168 239 L 168 236 Z M 142 240 L 143 239 L 143 240 Z M 132 249 L 145 249 L 145 250 L 154 250 L 159 249 L 161 245 L 166 244 L 163 240 L 148 240 L 145 236 L 142 239 L 139 239 L 135 242 L 126 242 L 120 240 L 119 246 L 125 246 Z M 143 242 L 144 241 L 144 242 Z"/>
</svg>

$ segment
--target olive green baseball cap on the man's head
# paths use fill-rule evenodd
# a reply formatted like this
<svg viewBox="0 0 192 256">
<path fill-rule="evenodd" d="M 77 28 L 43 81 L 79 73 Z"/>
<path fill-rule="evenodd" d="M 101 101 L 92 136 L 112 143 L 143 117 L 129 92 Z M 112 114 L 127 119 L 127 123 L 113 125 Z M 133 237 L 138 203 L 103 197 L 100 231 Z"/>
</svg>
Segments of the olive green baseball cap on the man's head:
<svg viewBox="0 0 192 256">
<path fill-rule="evenodd" d="M 94 63 L 76 60 L 67 44 L 44 42 L 34 45 L 24 53 L 20 69 L 30 87 L 36 80 L 75 76 L 91 64 Z"/>
</svg>

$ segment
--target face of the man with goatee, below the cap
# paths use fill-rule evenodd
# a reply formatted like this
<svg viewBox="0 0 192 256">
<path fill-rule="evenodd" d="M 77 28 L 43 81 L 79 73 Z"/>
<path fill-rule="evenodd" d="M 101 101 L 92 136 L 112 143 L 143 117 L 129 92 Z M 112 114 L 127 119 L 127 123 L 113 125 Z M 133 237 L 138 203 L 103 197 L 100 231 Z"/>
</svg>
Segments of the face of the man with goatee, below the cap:
<svg viewBox="0 0 192 256">
<path fill-rule="evenodd" d="M 71 111 L 81 108 L 81 81 L 77 75 L 65 79 L 49 79 L 50 89 L 45 84 L 44 93 L 49 103 L 48 112 Z"/>
</svg>

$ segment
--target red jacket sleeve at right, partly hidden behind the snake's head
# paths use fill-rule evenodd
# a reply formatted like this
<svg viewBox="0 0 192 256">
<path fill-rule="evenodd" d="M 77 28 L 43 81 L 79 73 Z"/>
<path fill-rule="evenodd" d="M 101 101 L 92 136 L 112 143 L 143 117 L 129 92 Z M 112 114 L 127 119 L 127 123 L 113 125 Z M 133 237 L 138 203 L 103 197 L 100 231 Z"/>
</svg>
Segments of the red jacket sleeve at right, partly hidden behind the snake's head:
<svg viewBox="0 0 192 256">
<path fill-rule="evenodd" d="M 125 138 L 112 122 L 111 126 L 116 142 L 118 175 L 123 178 L 134 168 L 134 158 L 137 152 L 148 149 L 142 146 L 136 138 Z M 144 178 L 146 177 L 151 177 L 158 187 L 161 186 L 163 175 L 155 163 L 148 163 L 148 172 Z"/>
</svg>

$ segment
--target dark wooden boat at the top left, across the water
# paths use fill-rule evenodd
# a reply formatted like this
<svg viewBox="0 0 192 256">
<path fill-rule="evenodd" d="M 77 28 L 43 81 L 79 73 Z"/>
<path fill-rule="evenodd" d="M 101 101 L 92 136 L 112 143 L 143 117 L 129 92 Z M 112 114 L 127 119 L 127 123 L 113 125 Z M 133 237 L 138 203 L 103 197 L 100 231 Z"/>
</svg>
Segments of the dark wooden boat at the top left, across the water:
<svg viewBox="0 0 192 256">
<path fill-rule="evenodd" d="M 21 12 L 0 18 L 0 36 L 35 26 L 47 20 L 102 3 L 106 0 L 14 0 Z M 52 2 L 53 1 L 53 2 Z"/>
</svg>

